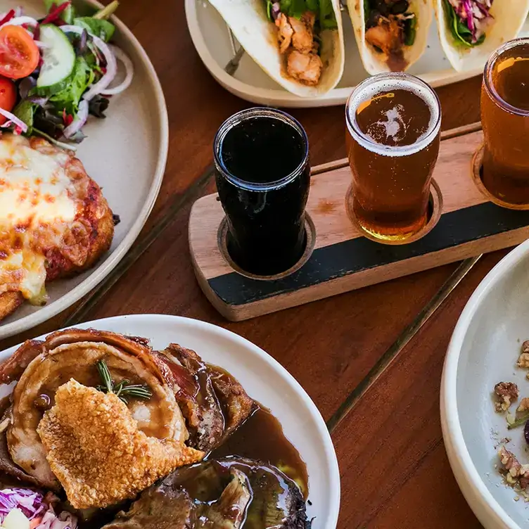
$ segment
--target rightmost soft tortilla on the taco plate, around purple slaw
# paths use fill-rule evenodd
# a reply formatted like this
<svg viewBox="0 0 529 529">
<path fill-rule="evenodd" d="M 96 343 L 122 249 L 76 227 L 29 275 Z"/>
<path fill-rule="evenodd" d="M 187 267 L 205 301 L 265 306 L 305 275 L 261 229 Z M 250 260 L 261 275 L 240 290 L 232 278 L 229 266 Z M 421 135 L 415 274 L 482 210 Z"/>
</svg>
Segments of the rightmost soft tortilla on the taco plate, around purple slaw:
<svg viewBox="0 0 529 529">
<path fill-rule="evenodd" d="M 435 16 L 438 21 L 439 39 L 447 59 L 458 72 L 483 70 L 490 54 L 504 42 L 516 38 L 525 23 L 529 11 L 529 0 L 496 0 L 490 8 L 494 23 L 485 34 L 483 44 L 465 46 L 452 36 L 447 24 L 447 13 L 442 0 L 435 1 Z"/>
</svg>

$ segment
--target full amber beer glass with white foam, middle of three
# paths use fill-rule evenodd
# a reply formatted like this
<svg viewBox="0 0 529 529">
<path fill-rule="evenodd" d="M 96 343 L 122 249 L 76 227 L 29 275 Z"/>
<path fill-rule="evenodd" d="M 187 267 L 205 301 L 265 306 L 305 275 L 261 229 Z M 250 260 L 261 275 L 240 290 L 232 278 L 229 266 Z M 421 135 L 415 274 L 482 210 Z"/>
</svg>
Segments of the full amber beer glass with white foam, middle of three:
<svg viewBox="0 0 529 529">
<path fill-rule="evenodd" d="M 345 119 L 352 216 L 381 241 L 414 236 L 428 222 L 440 145 L 437 95 L 412 75 L 374 75 L 352 92 Z"/>
</svg>

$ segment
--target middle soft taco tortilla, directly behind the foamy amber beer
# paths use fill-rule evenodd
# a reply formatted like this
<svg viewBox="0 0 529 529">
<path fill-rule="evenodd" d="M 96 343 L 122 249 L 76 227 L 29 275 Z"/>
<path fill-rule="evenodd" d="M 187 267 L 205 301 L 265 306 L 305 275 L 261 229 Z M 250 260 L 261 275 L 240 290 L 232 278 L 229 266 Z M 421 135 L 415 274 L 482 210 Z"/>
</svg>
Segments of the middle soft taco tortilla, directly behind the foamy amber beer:
<svg viewBox="0 0 529 529">
<path fill-rule="evenodd" d="M 351 17 L 352 27 L 355 30 L 355 39 L 364 63 L 364 68 L 371 75 L 377 73 L 390 72 L 386 63 L 384 53 L 377 51 L 374 46 L 366 42 L 366 17 L 364 13 L 363 0 L 348 0 L 348 11 Z M 417 18 L 415 42 L 412 46 L 403 46 L 404 61 L 407 63 L 404 70 L 407 70 L 426 50 L 428 40 L 428 28 L 432 23 L 431 0 L 410 0 L 409 10 L 415 13 Z"/>
</svg>

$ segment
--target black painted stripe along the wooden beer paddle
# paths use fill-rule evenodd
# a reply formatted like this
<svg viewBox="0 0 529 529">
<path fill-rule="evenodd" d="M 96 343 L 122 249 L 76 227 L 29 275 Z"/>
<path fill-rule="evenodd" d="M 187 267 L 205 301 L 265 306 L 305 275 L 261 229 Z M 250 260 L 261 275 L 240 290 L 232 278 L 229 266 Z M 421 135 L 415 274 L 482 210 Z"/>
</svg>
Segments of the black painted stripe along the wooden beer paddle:
<svg viewBox="0 0 529 529">
<path fill-rule="evenodd" d="M 443 214 L 437 226 L 414 243 L 388 246 L 358 237 L 317 248 L 302 268 L 283 279 L 261 281 L 231 272 L 208 283 L 227 305 L 246 305 L 528 225 L 529 211 L 507 210 L 487 202 Z"/>
</svg>

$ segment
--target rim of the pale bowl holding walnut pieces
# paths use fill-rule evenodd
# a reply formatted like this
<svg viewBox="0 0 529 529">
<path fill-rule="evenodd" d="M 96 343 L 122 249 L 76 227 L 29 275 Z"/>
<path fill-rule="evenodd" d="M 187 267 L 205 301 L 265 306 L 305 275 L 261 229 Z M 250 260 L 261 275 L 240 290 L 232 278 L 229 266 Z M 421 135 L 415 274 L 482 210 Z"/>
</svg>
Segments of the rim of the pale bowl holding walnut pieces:
<svg viewBox="0 0 529 529">
<path fill-rule="evenodd" d="M 520 529 L 520 526 L 511 519 L 505 509 L 487 490 L 466 447 L 459 423 L 457 399 L 453 397 L 457 390 L 457 369 L 466 331 L 469 329 L 472 318 L 483 298 L 511 272 L 511 269 L 514 269 L 519 262 L 528 256 L 529 240 L 507 254 L 480 282 L 459 316 L 448 345 L 442 370 L 440 413 L 442 436 L 447 456 L 466 502 L 469 503 L 474 514 L 486 528 Z"/>
</svg>

